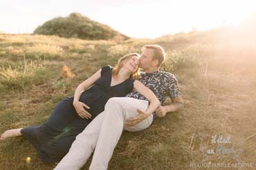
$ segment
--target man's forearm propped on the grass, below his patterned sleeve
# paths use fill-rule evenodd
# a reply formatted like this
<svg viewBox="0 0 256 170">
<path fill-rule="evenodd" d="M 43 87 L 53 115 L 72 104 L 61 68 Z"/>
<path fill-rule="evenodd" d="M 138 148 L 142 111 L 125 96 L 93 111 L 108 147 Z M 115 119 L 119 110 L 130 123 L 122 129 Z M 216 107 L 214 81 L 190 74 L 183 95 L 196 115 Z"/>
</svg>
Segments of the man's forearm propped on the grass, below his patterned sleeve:
<svg viewBox="0 0 256 170">
<path fill-rule="evenodd" d="M 165 105 L 165 106 L 159 106 L 156 109 L 156 115 L 158 117 L 163 117 L 167 112 L 174 112 L 178 111 L 183 108 L 183 100 L 181 96 L 177 96 L 176 98 L 172 98 L 172 104 L 171 105 Z"/>
</svg>

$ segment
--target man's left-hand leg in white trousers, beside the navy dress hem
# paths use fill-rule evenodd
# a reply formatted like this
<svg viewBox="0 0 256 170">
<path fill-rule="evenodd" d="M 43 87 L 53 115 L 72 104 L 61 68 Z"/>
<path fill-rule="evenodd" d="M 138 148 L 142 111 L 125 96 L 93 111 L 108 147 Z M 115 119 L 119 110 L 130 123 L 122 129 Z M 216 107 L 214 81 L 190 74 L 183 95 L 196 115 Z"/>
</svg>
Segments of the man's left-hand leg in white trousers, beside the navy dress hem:
<svg viewBox="0 0 256 170">
<path fill-rule="evenodd" d="M 84 166 L 95 148 L 100 127 L 104 120 L 104 111 L 96 116 L 93 121 L 82 131 L 71 145 L 66 156 L 57 164 L 54 170 L 75 170 Z"/>
</svg>

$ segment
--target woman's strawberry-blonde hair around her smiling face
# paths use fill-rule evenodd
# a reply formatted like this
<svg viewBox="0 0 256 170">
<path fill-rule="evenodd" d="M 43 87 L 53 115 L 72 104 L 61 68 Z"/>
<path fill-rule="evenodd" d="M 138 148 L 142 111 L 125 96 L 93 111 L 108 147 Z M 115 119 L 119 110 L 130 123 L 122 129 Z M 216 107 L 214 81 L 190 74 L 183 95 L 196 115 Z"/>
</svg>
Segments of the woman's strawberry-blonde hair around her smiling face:
<svg viewBox="0 0 256 170">
<path fill-rule="evenodd" d="M 122 56 L 120 59 L 118 59 L 118 63 L 116 64 L 116 66 L 113 68 L 112 70 L 112 74 L 116 75 L 118 74 L 118 72 L 120 71 L 120 69 L 122 68 L 122 66 L 125 64 L 125 61 L 128 61 L 129 59 L 131 59 L 132 56 L 138 56 L 140 57 L 140 54 L 133 52 L 130 54 L 126 54 L 125 56 Z M 138 74 L 139 71 L 138 69 L 136 70 L 136 72 L 134 72 L 134 74 L 131 74 L 131 78 L 138 78 Z"/>
</svg>

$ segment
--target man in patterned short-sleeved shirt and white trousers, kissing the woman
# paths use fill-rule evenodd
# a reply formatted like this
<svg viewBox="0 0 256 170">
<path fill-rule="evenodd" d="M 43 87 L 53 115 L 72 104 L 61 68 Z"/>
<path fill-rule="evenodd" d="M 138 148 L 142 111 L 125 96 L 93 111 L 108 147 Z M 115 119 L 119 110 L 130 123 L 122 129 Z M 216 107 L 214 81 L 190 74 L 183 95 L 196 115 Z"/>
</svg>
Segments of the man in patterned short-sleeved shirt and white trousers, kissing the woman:
<svg viewBox="0 0 256 170">
<path fill-rule="evenodd" d="M 156 116 L 163 117 L 183 107 L 178 81 L 173 74 L 159 71 L 165 61 L 165 51 L 160 45 L 144 45 L 139 59 L 139 67 L 145 73 L 138 81 L 154 92 L 161 104 L 167 96 L 172 105 L 160 106 L 152 115 L 145 115 L 139 104 L 147 99 L 138 92 L 131 92 L 125 98 L 110 98 L 104 111 L 79 134 L 66 156 L 57 164 L 55 170 L 80 169 L 94 151 L 90 169 L 107 169 L 113 149 L 116 147 L 122 130 L 140 131 L 146 129 Z M 135 102 L 134 102 L 135 100 Z M 138 102 L 136 102 L 138 101 Z"/>
</svg>

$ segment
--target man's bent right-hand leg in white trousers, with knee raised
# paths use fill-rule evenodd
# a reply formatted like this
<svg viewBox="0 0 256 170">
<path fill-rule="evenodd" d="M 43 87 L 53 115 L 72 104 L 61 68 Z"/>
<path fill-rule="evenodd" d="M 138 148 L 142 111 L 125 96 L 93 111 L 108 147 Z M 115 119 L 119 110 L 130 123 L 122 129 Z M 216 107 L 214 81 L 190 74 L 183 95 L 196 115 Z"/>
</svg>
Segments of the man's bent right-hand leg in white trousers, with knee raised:
<svg viewBox="0 0 256 170">
<path fill-rule="evenodd" d="M 138 116 L 137 109 L 146 111 L 148 101 L 135 98 L 110 98 L 105 105 L 105 118 L 100 129 L 100 136 L 93 154 L 90 169 L 107 169 L 113 149 L 122 134 L 125 120 Z M 133 127 L 125 128 L 129 131 L 140 131 L 151 125 L 153 116 L 149 116 Z"/>
</svg>

